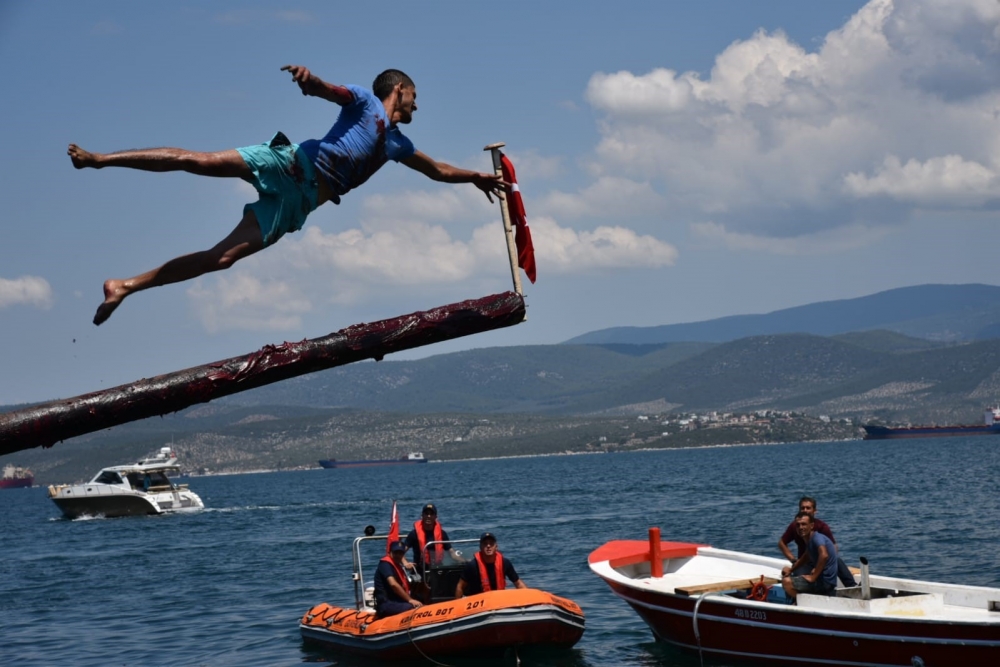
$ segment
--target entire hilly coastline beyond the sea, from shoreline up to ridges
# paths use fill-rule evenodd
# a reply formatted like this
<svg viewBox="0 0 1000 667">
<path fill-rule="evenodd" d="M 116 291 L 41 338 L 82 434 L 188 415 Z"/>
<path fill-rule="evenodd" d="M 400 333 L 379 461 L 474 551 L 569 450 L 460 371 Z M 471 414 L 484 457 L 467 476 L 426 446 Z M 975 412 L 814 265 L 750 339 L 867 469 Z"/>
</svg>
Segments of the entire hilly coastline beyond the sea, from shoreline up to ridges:
<svg viewBox="0 0 1000 667">
<path fill-rule="evenodd" d="M 600 341 L 591 344 L 351 364 L 74 438 L 54 454 L 32 450 L 17 463 L 73 479 L 98 460 L 130 460 L 175 438 L 189 465 L 212 469 L 248 452 L 252 465 L 279 468 L 331 452 L 443 457 L 447 443 L 472 440 L 490 455 L 566 451 L 628 434 L 639 414 L 780 410 L 854 424 L 972 423 L 1000 401 L 997 331 L 1000 288 L 925 285 L 574 339 Z M 690 339 L 665 340 L 681 335 Z M 608 431 L 608 419 L 623 421 Z"/>
</svg>

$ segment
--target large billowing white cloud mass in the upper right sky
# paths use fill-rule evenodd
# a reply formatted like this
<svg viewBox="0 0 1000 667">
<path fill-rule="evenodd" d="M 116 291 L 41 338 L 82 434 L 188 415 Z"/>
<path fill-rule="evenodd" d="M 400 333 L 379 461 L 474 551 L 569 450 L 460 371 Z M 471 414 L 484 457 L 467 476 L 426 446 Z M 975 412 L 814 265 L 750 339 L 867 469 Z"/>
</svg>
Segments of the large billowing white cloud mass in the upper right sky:
<svg viewBox="0 0 1000 667">
<path fill-rule="evenodd" d="M 647 213 L 711 219 L 733 247 L 774 251 L 772 238 L 806 252 L 797 239 L 828 230 L 857 237 L 918 209 L 992 206 L 1000 3 L 872 0 L 814 53 L 758 31 L 707 76 L 669 63 L 599 72 L 586 99 L 604 114 L 595 183 L 553 193 L 547 212 L 581 215 L 615 178 L 660 193 Z"/>
</svg>

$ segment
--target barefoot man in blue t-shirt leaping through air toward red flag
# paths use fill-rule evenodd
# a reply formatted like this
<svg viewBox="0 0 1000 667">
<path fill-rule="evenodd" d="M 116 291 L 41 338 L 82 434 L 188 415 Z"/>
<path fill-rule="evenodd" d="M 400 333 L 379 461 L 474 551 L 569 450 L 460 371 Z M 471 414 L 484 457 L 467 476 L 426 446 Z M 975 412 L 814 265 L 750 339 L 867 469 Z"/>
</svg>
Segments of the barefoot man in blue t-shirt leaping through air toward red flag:
<svg viewBox="0 0 1000 667">
<path fill-rule="evenodd" d="M 298 231 L 306 217 L 328 201 L 368 180 L 388 160 L 402 162 L 428 178 L 444 183 L 472 183 L 499 195 L 503 181 L 495 174 L 468 171 L 437 162 L 416 150 L 397 127 L 413 120 L 417 91 L 413 80 L 399 70 L 375 78 L 372 90 L 327 83 L 300 65 L 281 68 L 292 75 L 303 95 L 321 97 L 342 108 L 322 139 L 291 143 L 278 132 L 266 144 L 218 153 L 181 148 L 147 148 L 117 153 L 90 153 L 70 144 L 67 153 L 77 169 L 128 167 L 143 171 L 186 171 L 199 176 L 242 178 L 260 194 L 243 208 L 243 218 L 211 250 L 182 255 L 163 266 L 124 280 L 104 282 L 104 303 L 94 324 L 101 324 L 128 295 L 228 269 L 244 257 Z"/>
</svg>

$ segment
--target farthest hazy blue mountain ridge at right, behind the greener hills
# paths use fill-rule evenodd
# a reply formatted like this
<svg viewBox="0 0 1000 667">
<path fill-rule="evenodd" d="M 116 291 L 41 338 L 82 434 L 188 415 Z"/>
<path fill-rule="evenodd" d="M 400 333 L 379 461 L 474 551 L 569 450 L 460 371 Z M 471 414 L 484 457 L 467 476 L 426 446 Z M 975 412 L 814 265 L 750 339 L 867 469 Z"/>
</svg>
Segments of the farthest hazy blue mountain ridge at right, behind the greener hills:
<svg viewBox="0 0 1000 667">
<path fill-rule="evenodd" d="M 857 299 L 823 301 L 765 315 L 733 315 L 704 322 L 612 327 L 567 344 L 656 345 L 679 341 L 724 343 L 783 333 L 835 336 L 882 329 L 914 338 L 962 342 L 1000 336 L 1000 287 L 918 285 Z"/>
</svg>

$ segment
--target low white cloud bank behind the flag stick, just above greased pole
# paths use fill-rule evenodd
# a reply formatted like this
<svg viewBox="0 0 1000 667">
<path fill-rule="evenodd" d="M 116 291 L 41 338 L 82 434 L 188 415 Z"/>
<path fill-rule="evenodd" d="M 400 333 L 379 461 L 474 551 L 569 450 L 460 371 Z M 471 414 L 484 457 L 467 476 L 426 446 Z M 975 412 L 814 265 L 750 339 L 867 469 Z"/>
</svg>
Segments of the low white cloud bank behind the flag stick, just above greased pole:
<svg viewBox="0 0 1000 667">
<path fill-rule="evenodd" d="M 677 257 L 673 246 L 621 226 L 577 231 L 545 216 L 529 226 L 540 279 L 595 269 L 658 268 Z M 367 232 L 327 234 L 313 226 L 217 278 L 200 279 L 187 293 L 209 331 L 291 330 L 322 304 L 353 305 L 450 284 L 496 289 L 509 276 L 507 262 L 499 216 L 473 229 L 468 240 L 417 220 Z"/>
</svg>

